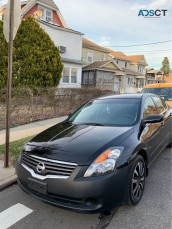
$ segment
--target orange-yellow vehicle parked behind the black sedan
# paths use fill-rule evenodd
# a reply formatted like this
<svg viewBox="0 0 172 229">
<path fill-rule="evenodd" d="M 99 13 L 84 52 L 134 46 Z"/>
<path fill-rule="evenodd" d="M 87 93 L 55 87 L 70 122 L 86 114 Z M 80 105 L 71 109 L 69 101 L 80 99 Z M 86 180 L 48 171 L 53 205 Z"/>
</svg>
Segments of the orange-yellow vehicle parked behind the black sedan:
<svg viewBox="0 0 172 229">
<path fill-rule="evenodd" d="M 172 108 L 172 83 L 148 84 L 144 86 L 142 93 L 159 95 Z"/>
</svg>

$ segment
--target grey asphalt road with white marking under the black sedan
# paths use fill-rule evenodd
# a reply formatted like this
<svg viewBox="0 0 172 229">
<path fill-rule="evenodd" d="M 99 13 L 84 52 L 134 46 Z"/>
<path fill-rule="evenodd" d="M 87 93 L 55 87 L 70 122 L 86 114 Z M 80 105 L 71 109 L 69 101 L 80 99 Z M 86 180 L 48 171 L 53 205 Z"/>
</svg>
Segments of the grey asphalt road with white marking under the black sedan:
<svg viewBox="0 0 172 229">
<path fill-rule="evenodd" d="M 110 216 L 62 210 L 38 201 L 14 185 L 0 192 L 0 229 L 5 228 L 4 219 L 11 229 L 171 229 L 171 159 L 172 149 L 165 149 L 150 168 L 141 202 L 135 207 L 114 209 Z"/>
</svg>

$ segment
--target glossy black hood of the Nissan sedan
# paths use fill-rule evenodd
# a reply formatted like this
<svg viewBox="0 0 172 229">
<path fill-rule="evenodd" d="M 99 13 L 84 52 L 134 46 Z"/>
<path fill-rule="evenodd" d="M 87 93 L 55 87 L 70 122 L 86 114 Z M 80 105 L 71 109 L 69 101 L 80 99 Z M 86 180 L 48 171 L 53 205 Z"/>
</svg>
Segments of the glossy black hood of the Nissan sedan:
<svg viewBox="0 0 172 229">
<path fill-rule="evenodd" d="M 133 127 L 57 124 L 35 136 L 24 150 L 40 157 L 89 165 L 95 158 L 120 143 Z"/>
</svg>

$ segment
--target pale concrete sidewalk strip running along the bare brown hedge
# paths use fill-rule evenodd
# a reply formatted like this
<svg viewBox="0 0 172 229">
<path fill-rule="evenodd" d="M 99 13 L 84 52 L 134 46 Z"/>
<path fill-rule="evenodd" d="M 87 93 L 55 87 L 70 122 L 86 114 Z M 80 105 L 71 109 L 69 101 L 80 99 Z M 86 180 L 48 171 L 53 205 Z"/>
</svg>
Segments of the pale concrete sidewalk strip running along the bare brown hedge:
<svg viewBox="0 0 172 229">
<path fill-rule="evenodd" d="M 67 116 L 62 116 L 10 128 L 10 142 L 36 135 L 66 118 Z M 5 144 L 5 130 L 0 131 L 0 145 L 3 144 Z"/>
</svg>

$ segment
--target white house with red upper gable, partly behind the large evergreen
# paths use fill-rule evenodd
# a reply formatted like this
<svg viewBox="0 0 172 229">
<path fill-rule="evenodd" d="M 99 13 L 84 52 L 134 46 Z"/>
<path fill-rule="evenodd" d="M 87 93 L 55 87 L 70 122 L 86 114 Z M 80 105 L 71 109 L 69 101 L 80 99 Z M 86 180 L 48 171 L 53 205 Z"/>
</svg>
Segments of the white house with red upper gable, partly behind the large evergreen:
<svg viewBox="0 0 172 229">
<path fill-rule="evenodd" d="M 5 7 L 0 8 L 1 19 Z M 21 17 L 33 16 L 60 51 L 64 68 L 59 87 L 81 87 L 83 34 L 68 27 L 53 0 L 22 1 L 21 8 Z"/>
</svg>

